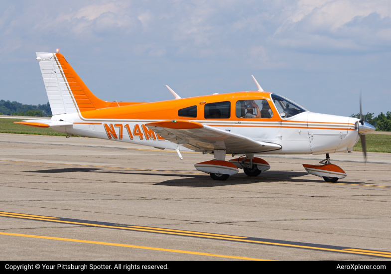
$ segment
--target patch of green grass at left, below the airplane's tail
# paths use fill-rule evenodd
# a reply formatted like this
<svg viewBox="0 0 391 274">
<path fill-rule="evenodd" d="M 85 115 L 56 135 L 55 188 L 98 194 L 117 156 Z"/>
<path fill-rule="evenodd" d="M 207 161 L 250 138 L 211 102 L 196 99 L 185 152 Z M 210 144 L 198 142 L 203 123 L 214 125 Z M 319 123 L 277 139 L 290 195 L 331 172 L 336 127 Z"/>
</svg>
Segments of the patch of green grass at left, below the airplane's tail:
<svg viewBox="0 0 391 274">
<path fill-rule="evenodd" d="M 67 136 L 64 133 L 53 131 L 51 128 L 35 128 L 13 123 L 23 120 L 27 119 L 0 118 L 0 133 Z"/>
</svg>

